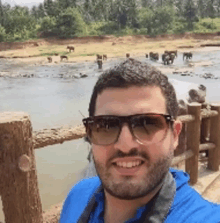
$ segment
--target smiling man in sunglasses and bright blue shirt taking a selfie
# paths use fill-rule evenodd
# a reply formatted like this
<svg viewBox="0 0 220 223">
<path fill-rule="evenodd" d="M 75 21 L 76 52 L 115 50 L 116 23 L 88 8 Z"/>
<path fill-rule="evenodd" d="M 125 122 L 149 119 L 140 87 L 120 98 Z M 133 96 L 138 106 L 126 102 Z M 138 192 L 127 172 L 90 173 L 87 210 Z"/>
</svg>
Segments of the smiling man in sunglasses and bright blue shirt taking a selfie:
<svg viewBox="0 0 220 223">
<path fill-rule="evenodd" d="M 98 79 L 83 120 L 98 176 L 70 191 L 61 223 L 217 223 L 220 207 L 169 169 L 182 124 L 173 86 L 128 59 Z"/>
</svg>

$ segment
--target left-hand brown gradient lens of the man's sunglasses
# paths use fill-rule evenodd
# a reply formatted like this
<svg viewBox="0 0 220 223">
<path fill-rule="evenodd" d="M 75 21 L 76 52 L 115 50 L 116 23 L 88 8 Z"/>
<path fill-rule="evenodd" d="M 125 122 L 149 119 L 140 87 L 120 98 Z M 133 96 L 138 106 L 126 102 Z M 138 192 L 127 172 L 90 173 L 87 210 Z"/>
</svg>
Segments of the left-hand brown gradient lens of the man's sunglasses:
<svg viewBox="0 0 220 223">
<path fill-rule="evenodd" d="M 114 143 L 119 132 L 120 120 L 116 117 L 95 118 L 87 127 L 90 141 L 97 145 L 110 145 Z"/>
</svg>

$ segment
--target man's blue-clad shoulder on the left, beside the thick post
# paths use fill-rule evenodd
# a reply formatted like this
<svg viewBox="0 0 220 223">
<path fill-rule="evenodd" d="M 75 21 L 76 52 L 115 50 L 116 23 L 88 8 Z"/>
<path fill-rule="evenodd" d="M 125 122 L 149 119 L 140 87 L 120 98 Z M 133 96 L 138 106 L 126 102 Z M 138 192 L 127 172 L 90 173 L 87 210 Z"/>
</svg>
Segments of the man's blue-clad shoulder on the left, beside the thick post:
<svg viewBox="0 0 220 223">
<path fill-rule="evenodd" d="M 100 185 L 101 181 L 97 176 L 79 181 L 64 201 L 60 223 L 76 222 Z"/>
</svg>

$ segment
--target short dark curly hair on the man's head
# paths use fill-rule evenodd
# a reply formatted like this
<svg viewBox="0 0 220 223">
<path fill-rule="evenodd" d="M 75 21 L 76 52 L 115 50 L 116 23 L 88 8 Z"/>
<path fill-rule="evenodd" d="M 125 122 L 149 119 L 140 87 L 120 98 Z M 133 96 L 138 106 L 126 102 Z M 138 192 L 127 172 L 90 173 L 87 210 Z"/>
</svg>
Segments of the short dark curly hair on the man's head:
<svg viewBox="0 0 220 223">
<path fill-rule="evenodd" d="M 89 116 L 94 116 L 96 100 L 108 88 L 129 88 L 132 86 L 159 87 L 166 100 L 167 113 L 173 118 L 177 117 L 178 102 L 173 85 L 168 77 L 155 67 L 129 58 L 119 65 L 102 73 L 92 92 L 89 103 Z"/>
</svg>

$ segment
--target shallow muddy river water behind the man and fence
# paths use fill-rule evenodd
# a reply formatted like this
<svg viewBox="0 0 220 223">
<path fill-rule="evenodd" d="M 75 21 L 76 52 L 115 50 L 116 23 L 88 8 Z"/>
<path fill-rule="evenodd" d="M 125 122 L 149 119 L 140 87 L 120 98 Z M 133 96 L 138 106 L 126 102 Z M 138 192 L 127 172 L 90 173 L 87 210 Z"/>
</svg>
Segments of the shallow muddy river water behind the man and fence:
<svg viewBox="0 0 220 223">
<path fill-rule="evenodd" d="M 155 66 L 164 67 L 161 59 L 153 62 L 138 57 Z M 124 58 L 118 61 L 123 61 Z M 118 63 L 108 60 L 103 69 Z M 190 83 L 204 84 L 209 101 L 220 101 L 220 79 L 200 78 L 200 74 L 212 73 L 220 77 L 220 51 L 195 52 L 191 62 L 205 63 L 208 66 L 194 66 L 191 76 L 181 76 L 168 72 L 175 83 L 177 94 L 183 95 Z M 169 68 L 189 68 L 178 55 L 174 65 Z M 191 68 L 189 68 L 191 69 Z M 80 73 L 87 74 L 79 78 Z M 0 59 L 0 112 L 24 111 L 30 114 L 33 129 L 54 128 L 62 125 L 81 124 L 82 115 L 88 115 L 88 103 L 92 88 L 100 75 L 95 62 L 63 63 L 54 65 L 23 66 L 11 60 Z M 33 74 L 33 77 L 22 77 Z M 80 111 L 80 112 L 79 112 Z M 88 144 L 83 140 L 65 142 L 36 150 L 38 182 L 43 209 L 61 202 L 70 187 L 81 177 L 87 165 Z M 0 220 L 3 219 L 1 213 Z"/>
</svg>

